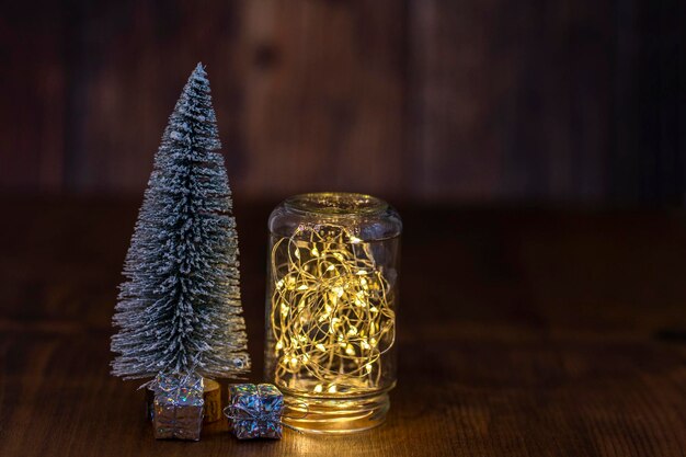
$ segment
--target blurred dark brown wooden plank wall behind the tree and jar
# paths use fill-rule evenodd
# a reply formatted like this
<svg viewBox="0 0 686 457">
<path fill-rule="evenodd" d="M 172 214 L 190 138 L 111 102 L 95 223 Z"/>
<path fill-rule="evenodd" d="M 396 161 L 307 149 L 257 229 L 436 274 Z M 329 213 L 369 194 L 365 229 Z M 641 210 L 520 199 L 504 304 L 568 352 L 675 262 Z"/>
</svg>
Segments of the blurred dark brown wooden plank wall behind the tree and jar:
<svg viewBox="0 0 686 457">
<path fill-rule="evenodd" d="M 4 191 L 139 193 L 202 60 L 247 197 L 682 201 L 683 1 L 2 3 Z"/>
</svg>

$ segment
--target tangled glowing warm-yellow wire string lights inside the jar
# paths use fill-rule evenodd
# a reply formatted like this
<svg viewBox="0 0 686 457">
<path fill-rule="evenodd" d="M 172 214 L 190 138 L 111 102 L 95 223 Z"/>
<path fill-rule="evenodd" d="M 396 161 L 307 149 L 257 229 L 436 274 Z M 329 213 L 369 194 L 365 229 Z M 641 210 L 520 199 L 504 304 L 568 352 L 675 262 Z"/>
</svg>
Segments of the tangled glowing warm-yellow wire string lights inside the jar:
<svg viewBox="0 0 686 457">
<path fill-rule="evenodd" d="M 342 226 L 301 226 L 274 244 L 272 269 L 275 384 L 329 395 L 378 388 L 396 317 L 371 247 Z"/>
</svg>

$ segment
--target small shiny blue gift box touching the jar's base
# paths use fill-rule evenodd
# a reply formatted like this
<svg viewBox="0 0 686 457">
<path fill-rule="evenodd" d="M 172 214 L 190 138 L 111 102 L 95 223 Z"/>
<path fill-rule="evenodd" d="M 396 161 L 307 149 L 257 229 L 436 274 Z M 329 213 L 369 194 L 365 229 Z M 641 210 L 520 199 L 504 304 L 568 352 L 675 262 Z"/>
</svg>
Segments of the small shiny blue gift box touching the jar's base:
<svg viewBox="0 0 686 457">
<path fill-rule="evenodd" d="M 271 384 L 229 386 L 226 414 L 229 429 L 239 439 L 282 437 L 284 396 Z"/>
</svg>

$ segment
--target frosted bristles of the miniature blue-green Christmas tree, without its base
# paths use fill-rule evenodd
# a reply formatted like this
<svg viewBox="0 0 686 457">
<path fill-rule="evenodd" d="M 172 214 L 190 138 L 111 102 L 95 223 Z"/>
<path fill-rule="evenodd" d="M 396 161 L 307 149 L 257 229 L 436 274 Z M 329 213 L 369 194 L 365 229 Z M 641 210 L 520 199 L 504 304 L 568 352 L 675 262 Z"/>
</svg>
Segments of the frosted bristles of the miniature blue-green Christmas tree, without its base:
<svg viewBox="0 0 686 457">
<path fill-rule="evenodd" d="M 169 118 L 126 255 L 113 318 L 116 376 L 232 377 L 250 367 L 220 147 L 198 64 Z"/>
</svg>

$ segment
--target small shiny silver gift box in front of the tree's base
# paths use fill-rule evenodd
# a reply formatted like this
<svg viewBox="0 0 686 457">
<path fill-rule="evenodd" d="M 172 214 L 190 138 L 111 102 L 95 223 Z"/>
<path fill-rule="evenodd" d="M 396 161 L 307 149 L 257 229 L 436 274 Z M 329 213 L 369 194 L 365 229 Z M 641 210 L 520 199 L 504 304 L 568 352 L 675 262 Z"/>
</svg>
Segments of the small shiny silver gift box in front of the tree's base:
<svg viewBox="0 0 686 457">
<path fill-rule="evenodd" d="M 159 374 L 152 389 L 155 437 L 198 441 L 203 426 L 203 377 Z"/>
</svg>

